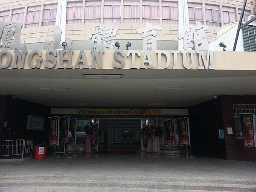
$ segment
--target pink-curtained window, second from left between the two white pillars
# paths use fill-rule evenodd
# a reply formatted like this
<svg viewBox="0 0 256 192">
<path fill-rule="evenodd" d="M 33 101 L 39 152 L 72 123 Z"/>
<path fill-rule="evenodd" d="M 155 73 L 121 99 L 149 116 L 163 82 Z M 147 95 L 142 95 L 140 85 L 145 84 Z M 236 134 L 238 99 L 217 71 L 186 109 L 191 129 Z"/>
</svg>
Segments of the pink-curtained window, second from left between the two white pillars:
<svg viewBox="0 0 256 192">
<path fill-rule="evenodd" d="M 100 23 L 101 1 L 85 1 L 84 22 Z"/>
</svg>

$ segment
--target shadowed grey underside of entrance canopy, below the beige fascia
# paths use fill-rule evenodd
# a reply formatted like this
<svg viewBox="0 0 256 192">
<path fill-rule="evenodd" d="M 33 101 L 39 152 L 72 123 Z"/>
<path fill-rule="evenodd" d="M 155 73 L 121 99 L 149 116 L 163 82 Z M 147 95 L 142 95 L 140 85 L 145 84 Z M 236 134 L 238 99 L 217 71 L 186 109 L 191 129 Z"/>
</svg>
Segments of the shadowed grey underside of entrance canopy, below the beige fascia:
<svg viewBox="0 0 256 192">
<path fill-rule="evenodd" d="M 123 78 L 84 79 L 84 73 Z M 190 107 L 213 95 L 256 94 L 256 71 L 23 69 L 0 70 L 0 78 L 0 94 L 50 107 Z"/>
</svg>

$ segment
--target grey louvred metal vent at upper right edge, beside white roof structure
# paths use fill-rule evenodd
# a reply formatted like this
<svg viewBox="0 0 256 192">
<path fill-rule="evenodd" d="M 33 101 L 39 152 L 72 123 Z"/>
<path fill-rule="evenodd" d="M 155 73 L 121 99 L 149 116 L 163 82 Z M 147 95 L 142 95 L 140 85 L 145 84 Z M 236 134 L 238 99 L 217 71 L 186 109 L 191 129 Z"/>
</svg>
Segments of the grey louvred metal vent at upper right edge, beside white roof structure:
<svg viewBox="0 0 256 192">
<path fill-rule="evenodd" d="M 244 51 L 256 51 L 256 26 L 247 25 L 242 28 Z"/>
</svg>

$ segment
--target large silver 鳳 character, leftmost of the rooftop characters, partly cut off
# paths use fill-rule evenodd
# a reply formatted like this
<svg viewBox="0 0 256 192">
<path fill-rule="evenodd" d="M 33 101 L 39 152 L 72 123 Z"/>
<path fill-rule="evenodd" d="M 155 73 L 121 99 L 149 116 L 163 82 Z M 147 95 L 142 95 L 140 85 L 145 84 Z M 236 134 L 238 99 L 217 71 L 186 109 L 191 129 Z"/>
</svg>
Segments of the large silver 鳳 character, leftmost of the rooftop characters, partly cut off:
<svg viewBox="0 0 256 192">
<path fill-rule="evenodd" d="M 20 44 L 20 31 L 23 24 L 20 21 L 0 22 L 1 50 L 25 50 L 26 42 Z"/>
</svg>

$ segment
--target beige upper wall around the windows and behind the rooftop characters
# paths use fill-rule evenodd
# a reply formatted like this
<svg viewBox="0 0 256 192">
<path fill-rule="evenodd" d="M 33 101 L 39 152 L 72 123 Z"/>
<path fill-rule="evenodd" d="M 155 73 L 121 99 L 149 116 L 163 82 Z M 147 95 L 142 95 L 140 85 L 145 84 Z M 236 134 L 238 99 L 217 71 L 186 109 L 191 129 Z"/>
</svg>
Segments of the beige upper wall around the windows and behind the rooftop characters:
<svg viewBox="0 0 256 192">
<path fill-rule="evenodd" d="M 69 1 L 80 1 L 81 0 L 67 0 Z M 83 0 L 85 1 L 85 0 Z M 175 1 L 175 0 L 174 0 Z M 177 1 L 177 0 L 176 0 Z M 238 15 L 238 9 L 241 9 L 243 5 L 243 0 L 218 0 L 218 1 L 209 1 L 209 0 L 188 0 L 189 2 L 197 2 L 197 3 L 203 3 L 203 8 L 205 7 L 205 4 L 218 4 L 220 5 L 220 11 L 221 11 L 221 18 L 222 18 L 222 8 L 221 6 L 231 6 L 236 8 L 237 18 L 239 18 Z M 161 5 L 162 0 L 160 0 Z M 253 2 L 253 3 L 251 3 Z M 12 9 L 17 8 L 24 8 L 25 11 L 27 10 L 27 7 L 29 6 L 38 6 L 41 5 L 41 20 L 43 15 L 43 8 L 44 4 L 52 4 L 52 3 L 58 3 L 58 0 L 0 0 L 0 12 L 11 10 L 10 11 L 10 18 L 12 14 Z M 104 0 L 102 0 L 102 5 L 104 3 Z M 122 0 L 121 0 L 122 4 Z M 255 0 L 248 1 L 247 3 L 247 10 L 250 10 L 251 14 L 253 14 L 255 9 Z M 160 15 L 162 9 L 160 9 Z M 204 24 L 205 21 L 205 10 L 204 10 Z M 122 6 L 121 6 L 121 16 L 122 16 Z M 142 20 L 142 12 L 140 14 L 140 17 Z M 26 18 L 26 13 L 25 13 Z M 102 18 L 103 18 L 103 12 L 102 12 Z M 221 19 L 222 20 L 222 19 Z M 102 19 L 103 21 L 103 19 Z M 121 18 L 122 22 L 122 18 Z M 25 26 L 25 20 L 23 22 Z M 222 23 L 223 24 L 223 23 Z M 26 43 L 37 43 L 37 42 L 44 42 L 45 39 L 48 39 L 49 41 L 53 40 L 53 28 L 54 26 L 41 26 L 41 22 L 39 24 L 39 27 L 29 27 L 29 28 L 23 28 L 21 32 L 21 42 L 26 41 Z M 66 37 L 72 39 L 73 41 L 76 40 L 87 40 L 89 32 L 92 29 L 92 26 L 94 26 L 95 23 L 79 23 L 79 24 L 67 24 L 66 29 Z M 116 35 L 115 39 L 141 39 L 140 35 L 138 35 L 135 30 L 144 26 L 145 23 L 116 23 L 116 26 L 118 27 L 118 34 Z M 177 24 L 165 24 L 162 23 L 162 20 L 160 19 L 160 26 L 163 27 L 162 31 L 159 32 L 159 35 L 157 37 L 158 40 L 165 40 L 165 41 L 177 41 L 177 34 L 178 34 L 178 25 Z M 209 26 L 209 31 L 207 32 L 207 41 L 212 41 L 215 38 L 215 32 L 218 29 L 218 27 Z"/>
</svg>

